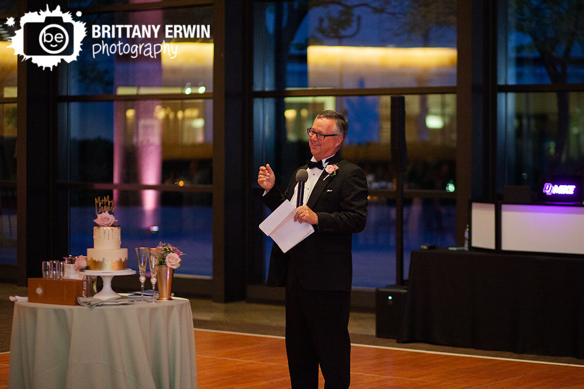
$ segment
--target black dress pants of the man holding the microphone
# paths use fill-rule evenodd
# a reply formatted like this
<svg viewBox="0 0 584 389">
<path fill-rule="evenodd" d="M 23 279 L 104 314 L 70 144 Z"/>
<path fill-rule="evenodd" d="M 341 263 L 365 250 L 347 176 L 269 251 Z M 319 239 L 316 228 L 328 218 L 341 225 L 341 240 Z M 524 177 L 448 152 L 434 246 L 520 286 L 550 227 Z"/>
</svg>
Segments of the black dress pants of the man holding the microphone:
<svg viewBox="0 0 584 389">
<path fill-rule="evenodd" d="M 326 389 L 350 383 L 350 292 L 306 290 L 293 267 L 286 281 L 286 354 L 293 389 L 317 389 L 318 366 Z"/>
</svg>

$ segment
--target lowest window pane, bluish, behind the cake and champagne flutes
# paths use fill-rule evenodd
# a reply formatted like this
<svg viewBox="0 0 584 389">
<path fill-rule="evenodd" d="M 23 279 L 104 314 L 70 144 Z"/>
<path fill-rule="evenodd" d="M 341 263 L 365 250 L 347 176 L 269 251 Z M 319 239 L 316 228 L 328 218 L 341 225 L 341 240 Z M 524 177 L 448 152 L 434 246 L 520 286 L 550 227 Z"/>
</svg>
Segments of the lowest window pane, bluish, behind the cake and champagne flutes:
<svg viewBox="0 0 584 389">
<path fill-rule="evenodd" d="M 114 194 L 114 215 L 121 226 L 121 246 L 155 247 L 160 241 L 169 242 L 187 254 L 175 274 L 213 275 L 212 204 L 203 205 L 199 199 L 206 193 L 158 193 L 166 201 L 148 210 L 141 203 L 141 192 L 118 191 L 117 196 Z M 112 192 L 70 192 L 69 245 L 72 254 L 85 255 L 87 248 L 93 246 L 94 199 L 107 194 L 111 196 Z"/>
</svg>

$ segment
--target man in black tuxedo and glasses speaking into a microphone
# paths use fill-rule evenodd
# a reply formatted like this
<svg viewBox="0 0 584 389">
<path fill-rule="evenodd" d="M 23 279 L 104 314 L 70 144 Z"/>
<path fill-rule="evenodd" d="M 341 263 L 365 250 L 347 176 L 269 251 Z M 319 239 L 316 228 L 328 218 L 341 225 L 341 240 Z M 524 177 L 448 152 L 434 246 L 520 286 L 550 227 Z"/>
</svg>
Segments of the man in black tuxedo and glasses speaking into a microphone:
<svg viewBox="0 0 584 389">
<path fill-rule="evenodd" d="M 325 388 L 350 383 L 349 324 L 353 232 L 365 227 L 367 180 L 359 166 L 341 159 L 340 145 L 349 123 L 326 110 L 308 128 L 311 161 L 292 175 L 284 192 L 274 186 L 269 164 L 260 166 L 258 183 L 270 210 L 284 200 L 296 202 L 296 173 L 308 171 L 304 203 L 294 221 L 315 232 L 283 253 L 274 244 L 268 286 L 286 286 L 286 354 L 292 388 L 318 388 L 318 366 Z"/>
</svg>

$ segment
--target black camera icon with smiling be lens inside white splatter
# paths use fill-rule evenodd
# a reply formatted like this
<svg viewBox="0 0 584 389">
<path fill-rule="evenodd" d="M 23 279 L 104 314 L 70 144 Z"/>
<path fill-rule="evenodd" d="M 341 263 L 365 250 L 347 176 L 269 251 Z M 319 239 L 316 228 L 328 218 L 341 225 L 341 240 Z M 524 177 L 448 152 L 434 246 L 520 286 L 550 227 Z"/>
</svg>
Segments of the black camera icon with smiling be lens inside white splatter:
<svg viewBox="0 0 584 389">
<path fill-rule="evenodd" d="M 60 16 L 47 16 L 44 23 L 26 23 L 28 45 L 26 55 L 71 55 L 74 37 L 73 23 L 65 23 Z M 37 38 L 38 37 L 38 38 Z"/>
</svg>

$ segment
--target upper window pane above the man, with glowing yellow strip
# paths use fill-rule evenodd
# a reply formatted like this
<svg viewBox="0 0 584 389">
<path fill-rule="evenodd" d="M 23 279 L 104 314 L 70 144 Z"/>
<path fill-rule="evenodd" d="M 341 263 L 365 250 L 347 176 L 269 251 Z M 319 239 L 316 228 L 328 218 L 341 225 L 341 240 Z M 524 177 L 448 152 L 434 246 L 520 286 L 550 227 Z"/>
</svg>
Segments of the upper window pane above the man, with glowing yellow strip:
<svg viewBox="0 0 584 389">
<path fill-rule="evenodd" d="M 256 91 L 456 85 L 456 1 L 255 4 Z"/>
</svg>

